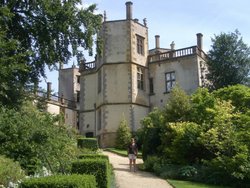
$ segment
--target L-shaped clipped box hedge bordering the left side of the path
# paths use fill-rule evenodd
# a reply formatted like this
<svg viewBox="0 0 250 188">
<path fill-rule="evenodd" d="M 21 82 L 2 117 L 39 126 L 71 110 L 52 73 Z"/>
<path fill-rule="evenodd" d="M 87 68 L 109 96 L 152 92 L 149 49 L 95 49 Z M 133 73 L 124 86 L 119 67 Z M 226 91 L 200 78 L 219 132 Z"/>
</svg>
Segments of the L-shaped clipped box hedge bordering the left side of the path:
<svg viewBox="0 0 250 188">
<path fill-rule="evenodd" d="M 107 159 L 80 159 L 72 163 L 72 173 L 94 175 L 99 188 L 110 187 L 110 170 Z"/>
</svg>

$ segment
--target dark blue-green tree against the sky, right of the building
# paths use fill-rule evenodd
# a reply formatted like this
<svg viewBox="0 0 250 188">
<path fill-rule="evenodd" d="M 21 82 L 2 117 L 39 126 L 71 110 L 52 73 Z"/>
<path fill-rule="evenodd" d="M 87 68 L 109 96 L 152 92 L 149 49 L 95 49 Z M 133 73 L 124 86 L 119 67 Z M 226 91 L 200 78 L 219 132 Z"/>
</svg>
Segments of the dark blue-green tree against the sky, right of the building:
<svg viewBox="0 0 250 188">
<path fill-rule="evenodd" d="M 250 48 L 240 33 L 221 33 L 212 39 L 208 52 L 208 75 L 211 89 L 229 85 L 247 84 L 250 71 Z M 249 83 L 248 83 L 249 84 Z"/>
</svg>

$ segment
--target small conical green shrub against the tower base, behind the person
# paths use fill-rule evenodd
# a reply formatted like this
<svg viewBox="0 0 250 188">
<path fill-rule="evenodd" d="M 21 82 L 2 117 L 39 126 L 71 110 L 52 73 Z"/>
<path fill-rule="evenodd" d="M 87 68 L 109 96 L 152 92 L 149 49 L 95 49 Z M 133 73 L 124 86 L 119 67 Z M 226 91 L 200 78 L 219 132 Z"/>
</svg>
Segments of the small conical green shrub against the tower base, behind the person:
<svg viewBox="0 0 250 188">
<path fill-rule="evenodd" d="M 127 149 L 130 143 L 132 134 L 125 118 L 122 119 L 116 131 L 115 147 L 117 149 Z"/>
</svg>

